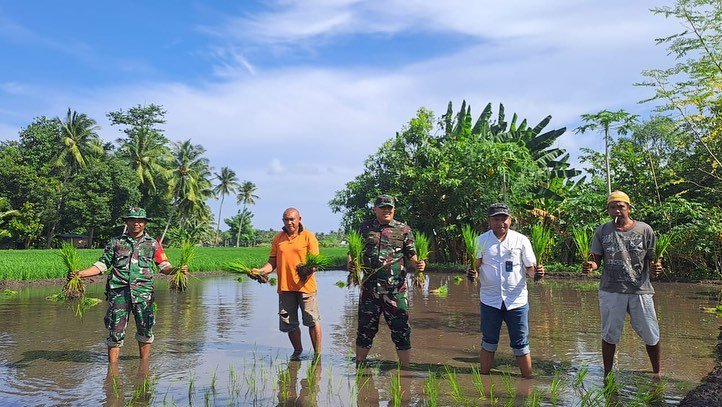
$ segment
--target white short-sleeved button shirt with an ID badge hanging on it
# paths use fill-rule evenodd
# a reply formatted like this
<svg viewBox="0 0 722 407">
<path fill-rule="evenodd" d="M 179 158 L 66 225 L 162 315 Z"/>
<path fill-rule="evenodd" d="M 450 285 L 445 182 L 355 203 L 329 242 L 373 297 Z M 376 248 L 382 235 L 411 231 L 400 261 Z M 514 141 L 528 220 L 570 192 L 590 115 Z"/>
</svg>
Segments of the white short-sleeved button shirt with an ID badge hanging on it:
<svg viewBox="0 0 722 407">
<path fill-rule="evenodd" d="M 489 230 L 477 238 L 476 258 L 479 268 L 479 300 L 490 307 L 519 308 L 527 304 L 526 268 L 536 264 L 529 239 L 514 230 L 500 241 Z"/>
</svg>

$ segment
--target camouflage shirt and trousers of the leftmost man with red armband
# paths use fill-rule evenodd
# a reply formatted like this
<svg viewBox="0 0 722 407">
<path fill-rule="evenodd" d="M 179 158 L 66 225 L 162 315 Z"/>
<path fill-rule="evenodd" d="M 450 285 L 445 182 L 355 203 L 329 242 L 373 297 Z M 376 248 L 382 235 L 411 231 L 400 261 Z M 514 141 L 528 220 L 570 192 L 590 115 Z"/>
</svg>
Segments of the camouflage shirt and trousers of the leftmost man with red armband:
<svg viewBox="0 0 722 407">
<path fill-rule="evenodd" d="M 135 317 L 138 342 L 153 342 L 153 273 L 170 263 L 160 243 L 145 233 L 141 238 L 124 234 L 111 239 L 95 266 L 101 273 L 110 270 L 105 287 L 108 311 L 105 326 L 109 347 L 123 346 L 129 313 Z"/>
</svg>

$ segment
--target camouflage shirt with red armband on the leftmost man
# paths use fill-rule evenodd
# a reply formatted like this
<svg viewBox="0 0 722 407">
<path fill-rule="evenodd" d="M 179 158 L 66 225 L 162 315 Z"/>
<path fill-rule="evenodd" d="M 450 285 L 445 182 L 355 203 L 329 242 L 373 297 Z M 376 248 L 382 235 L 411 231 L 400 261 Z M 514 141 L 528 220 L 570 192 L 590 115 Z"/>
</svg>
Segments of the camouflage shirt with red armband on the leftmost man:
<svg viewBox="0 0 722 407">
<path fill-rule="evenodd" d="M 155 268 L 163 270 L 170 263 L 161 244 L 146 233 L 138 239 L 128 234 L 111 239 L 95 266 L 110 270 L 108 288 L 130 287 L 131 300 L 138 303 L 153 296 Z"/>
</svg>

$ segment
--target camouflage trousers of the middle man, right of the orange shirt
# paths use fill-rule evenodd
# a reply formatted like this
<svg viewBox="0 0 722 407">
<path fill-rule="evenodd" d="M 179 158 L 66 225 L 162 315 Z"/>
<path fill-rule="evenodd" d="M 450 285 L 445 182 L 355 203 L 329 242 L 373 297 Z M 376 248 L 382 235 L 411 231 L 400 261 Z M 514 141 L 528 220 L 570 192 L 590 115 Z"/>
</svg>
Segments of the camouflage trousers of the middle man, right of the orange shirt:
<svg viewBox="0 0 722 407">
<path fill-rule="evenodd" d="M 391 340 L 396 345 L 396 349 L 411 349 L 411 325 L 409 325 L 406 292 L 377 294 L 365 289 L 361 290 L 358 304 L 356 346 L 371 348 L 374 337 L 379 331 L 381 314 L 384 315 L 386 325 L 391 330 Z"/>
</svg>

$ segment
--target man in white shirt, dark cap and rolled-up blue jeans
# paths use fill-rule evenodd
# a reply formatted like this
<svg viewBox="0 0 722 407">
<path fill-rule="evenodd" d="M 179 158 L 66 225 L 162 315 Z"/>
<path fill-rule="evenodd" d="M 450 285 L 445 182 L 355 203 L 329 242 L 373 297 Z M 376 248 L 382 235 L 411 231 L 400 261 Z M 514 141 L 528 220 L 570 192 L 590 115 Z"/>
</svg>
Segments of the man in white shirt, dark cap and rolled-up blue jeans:
<svg viewBox="0 0 722 407">
<path fill-rule="evenodd" d="M 476 268 L 469 272 L 470 277 L 479 276 L 480 371 L 489 374 L 494 365 L 494 352 L 499 345 L 503 321 L 509 330 L 509 345 L 521 375 L 531 378 L 526 276 L 544 276 L 544 267 L 536 264 L 529 239 L 509 229 L 511 214 L 506 204 L 492 204 L 487 213 L 489 231 L 478 237 Z"/>
</svg>

